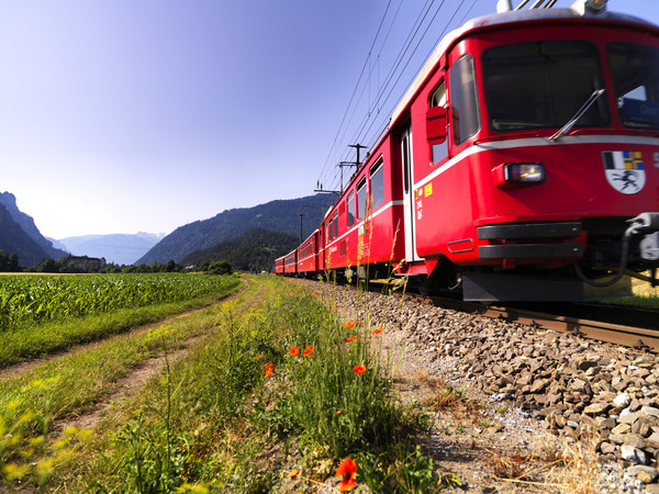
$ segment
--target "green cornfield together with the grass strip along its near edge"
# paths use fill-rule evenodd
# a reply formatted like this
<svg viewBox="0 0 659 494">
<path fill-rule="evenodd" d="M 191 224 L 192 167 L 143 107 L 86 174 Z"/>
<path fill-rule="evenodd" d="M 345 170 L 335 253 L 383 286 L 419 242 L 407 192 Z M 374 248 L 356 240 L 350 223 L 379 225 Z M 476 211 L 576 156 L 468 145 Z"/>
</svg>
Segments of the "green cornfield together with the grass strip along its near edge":
<svg viewBox="0 0 659 494">
<path fill-rule="evenodd" d="M 180 273 L 2 277 L 0 369 L 208 305 L 239 284 Z"/>
</svg>

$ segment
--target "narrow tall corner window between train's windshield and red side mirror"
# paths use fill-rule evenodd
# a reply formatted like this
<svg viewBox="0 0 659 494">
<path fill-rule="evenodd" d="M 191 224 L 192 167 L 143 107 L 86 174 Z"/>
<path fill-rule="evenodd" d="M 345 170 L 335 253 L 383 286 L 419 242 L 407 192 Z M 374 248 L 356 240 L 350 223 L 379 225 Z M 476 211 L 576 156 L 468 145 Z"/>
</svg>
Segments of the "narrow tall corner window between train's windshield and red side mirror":
<svg viewBox="0 0 659 494">
<path fill-rule="evenodd" d="M 454 143 L 460 144 L 480 128 L 473 57 L 465 55 L 450 69 L 450 114 Z"/>
</svg>

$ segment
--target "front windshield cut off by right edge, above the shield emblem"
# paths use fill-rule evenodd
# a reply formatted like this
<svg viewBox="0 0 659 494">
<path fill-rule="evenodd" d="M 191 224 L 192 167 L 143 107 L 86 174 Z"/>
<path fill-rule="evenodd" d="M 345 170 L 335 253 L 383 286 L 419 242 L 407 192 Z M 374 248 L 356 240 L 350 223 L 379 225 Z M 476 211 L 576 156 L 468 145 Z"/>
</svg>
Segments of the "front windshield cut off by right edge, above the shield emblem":
<svg viewBox="0 0 659 494">
<path fill-rule="evenodd" d="M 659 128 L 659 50 L 612 43 L 606 52 L 623 125 Z"/>
</svg>

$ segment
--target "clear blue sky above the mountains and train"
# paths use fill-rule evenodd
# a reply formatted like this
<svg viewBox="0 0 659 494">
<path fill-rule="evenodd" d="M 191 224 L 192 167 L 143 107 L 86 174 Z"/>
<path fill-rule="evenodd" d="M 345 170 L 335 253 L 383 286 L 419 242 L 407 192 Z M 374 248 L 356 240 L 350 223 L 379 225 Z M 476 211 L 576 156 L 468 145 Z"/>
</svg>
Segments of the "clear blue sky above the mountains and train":
<svg viewBox="0 0 659 494">
<path fill-rule="evenodd" d="M 338 187 L 346 146 L 373 144 L 444 30 L 495 4 L 2 0 L 0 192 L 63 238 Z M 656 0 L 608 4 L 659 23 Z"/>
</svg>

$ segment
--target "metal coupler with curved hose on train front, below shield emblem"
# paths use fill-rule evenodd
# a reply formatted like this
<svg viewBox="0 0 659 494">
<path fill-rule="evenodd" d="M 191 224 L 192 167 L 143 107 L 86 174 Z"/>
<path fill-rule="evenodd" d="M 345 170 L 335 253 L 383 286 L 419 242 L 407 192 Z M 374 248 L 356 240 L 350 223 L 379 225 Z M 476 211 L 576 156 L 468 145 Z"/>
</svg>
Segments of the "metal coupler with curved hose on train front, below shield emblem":
<svg viewBox="0 0 659 494">
<path fill-rule="evenodd" d="M 625 273 L 625 269 L 628 265 L 629 259 L 629 246 L 633 239 L 643 236 L 639 238 L 638 246 L 639 252 L 638 257 L 641 262 L 657 265 L 659 262 L 659 212 L 657 213 L 641 213 L 638 216 L 635 216 L 630 220 L 627 220 L 629 226 L 625 229 L 622 238 L 622 248 L 621 248 L 621 261 L 617 267 L 617 271 L 615 276 L 607 281 L 595 281 L 588 278 L 579 265 L 574 265 L 574 271 L 579 276 L 579 278 L 593 285 L 593 287 L 611 287 L 616 283 Z M 652 268 L 652 278 L 651 283 L 652 287 L 656 284 L 655 280 L 656 267 Z"/>
</svg>

